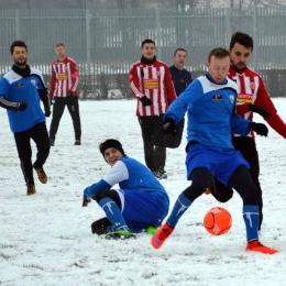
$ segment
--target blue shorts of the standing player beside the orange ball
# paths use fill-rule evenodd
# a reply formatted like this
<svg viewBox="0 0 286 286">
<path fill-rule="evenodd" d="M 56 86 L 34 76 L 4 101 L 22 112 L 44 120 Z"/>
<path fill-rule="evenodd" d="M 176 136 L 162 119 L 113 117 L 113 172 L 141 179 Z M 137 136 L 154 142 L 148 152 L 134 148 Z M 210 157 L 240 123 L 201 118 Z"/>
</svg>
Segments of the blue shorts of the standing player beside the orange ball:
<svg viewBox="0 0 286 286">
<path fill-rule="evenodd" d="M 187 179 L 190 179 L 193 169 L 206 167 L 221 183 L 228 186 L 230 176 L 241 165 L 250 168 L 250 164 L 239 151 L 220 151 L 201 144 L 194 144 L 188 147 L 186 157 Z"/>
</svg>

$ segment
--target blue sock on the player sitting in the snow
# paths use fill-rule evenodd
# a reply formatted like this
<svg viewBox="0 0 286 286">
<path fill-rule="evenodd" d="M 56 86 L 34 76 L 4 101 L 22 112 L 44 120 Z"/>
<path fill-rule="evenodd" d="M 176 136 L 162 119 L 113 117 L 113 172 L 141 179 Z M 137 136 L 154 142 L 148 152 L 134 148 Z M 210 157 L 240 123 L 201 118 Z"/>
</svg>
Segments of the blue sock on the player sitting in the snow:
<svg viewBox="0 0 286 286">
<path fill-rule="evenodd" d="M 102 208 L 102 210 L 106 212 L 107 218 L 110 220 L 110 222 L 113 224 L 112 230 L 128 230 L 129 227 L 121 213 L 121 210 L 119 209 L 118 205 L 110 198 L 103 198 L 101 199 L 98 205 Z"/>
</svg>

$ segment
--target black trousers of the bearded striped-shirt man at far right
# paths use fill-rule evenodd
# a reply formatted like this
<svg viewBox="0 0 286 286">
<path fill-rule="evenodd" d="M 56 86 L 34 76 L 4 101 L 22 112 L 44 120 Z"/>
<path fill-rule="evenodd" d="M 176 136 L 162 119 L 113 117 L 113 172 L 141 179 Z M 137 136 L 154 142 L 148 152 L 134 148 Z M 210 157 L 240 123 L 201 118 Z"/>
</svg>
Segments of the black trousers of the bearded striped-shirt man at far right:
<svg viewBox="0 0 286 286">
<path fill-rule="evenodd" d="M 248 136 L 233 136 L 232 138 L 232 144 L 235 150 L 240 151 L 243 157 L 249 162 L 250 164 L 250 174 L 251 178 L 254 183 L 254 185 L 257 188 L 257 200 L 258 200 L 258 208 L 260 208 L 260 226 L 258 229 L 261 229 L 261 223 L 263 220 L 263 198 L 262 198 L 262 189 L 260 184 L 260 160 L 258 160 L 258 153 L 256 150 L 255 141 L 252 138 Z M 224 186 L 220 182 L 218 182 L 215 178 L 215 188 L 210 187 L 210 191 L 219 201 L 227 201 L 232 197 L 232 189 L 230 187 Z"/>
</svg>

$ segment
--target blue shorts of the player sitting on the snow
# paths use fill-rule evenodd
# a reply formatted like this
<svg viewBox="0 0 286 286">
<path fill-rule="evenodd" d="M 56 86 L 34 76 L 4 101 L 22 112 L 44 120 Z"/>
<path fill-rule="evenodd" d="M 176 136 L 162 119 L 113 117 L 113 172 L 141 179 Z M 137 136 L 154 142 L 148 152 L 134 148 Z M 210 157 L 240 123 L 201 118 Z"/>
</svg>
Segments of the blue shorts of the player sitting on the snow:
<svg viewBox="0 0 286 286">
<path fill-rule="evenodd" d="M 121 212 L 130 229 L 139 231 L 150 226 L 160 227 L 168 210 L 161 204 L 160 198 L 142 191 L 117 189 L 121 201 Z"/>
</svg>

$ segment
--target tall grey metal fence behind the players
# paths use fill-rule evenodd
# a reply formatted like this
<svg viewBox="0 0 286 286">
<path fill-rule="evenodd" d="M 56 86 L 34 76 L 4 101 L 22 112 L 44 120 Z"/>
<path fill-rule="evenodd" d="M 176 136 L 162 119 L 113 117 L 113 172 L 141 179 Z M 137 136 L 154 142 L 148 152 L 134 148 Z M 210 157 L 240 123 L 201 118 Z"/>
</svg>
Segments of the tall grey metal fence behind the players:
<svg viewBox="0 0 286 286">
<path fill-rule="evenodd" d="M 29 63 L 50 74 L 54 45 L 64 42 L 79 65 L 85 91 L 123 85 L 130 65 L 141 57 L 141 42 L 156 42 L 157 56 L 172 64 L 174 51 L 185 47 L 187 68 L 205 70 L 204 63 L 215 46 L 228 47 L 231 34 L 242 31 L 254 38 L 250 67 L 280 70 L 286 67 L 286 7 L 249 9 L 173 10 L 0 10 L 0 74 L 11 66 L 9 46 L 23 40 Z M 264 74 L 265 74 L 264 73 Z M 275 72 L 276 73 L 276 72 Z M 119 76 L 121 75 L 121 76 Z M 268 78 L 275 78 L 268 76 Z M 279 76 L 284 81 L 285 76 Z M 278 81 L 277 81 L 278 82 Z M 274 85 L 268 85 L 275 87 Z M 102 87 L 101 87 L 102 88 Z M 284 87 L 283 87 L 284 88 Z M 279 88 L 279 89 L 283 89 Z M 272 92 L 277 95 L 277 92 Z M 284 94 L 285 95 L 285 94 Z"/>
</svg>

